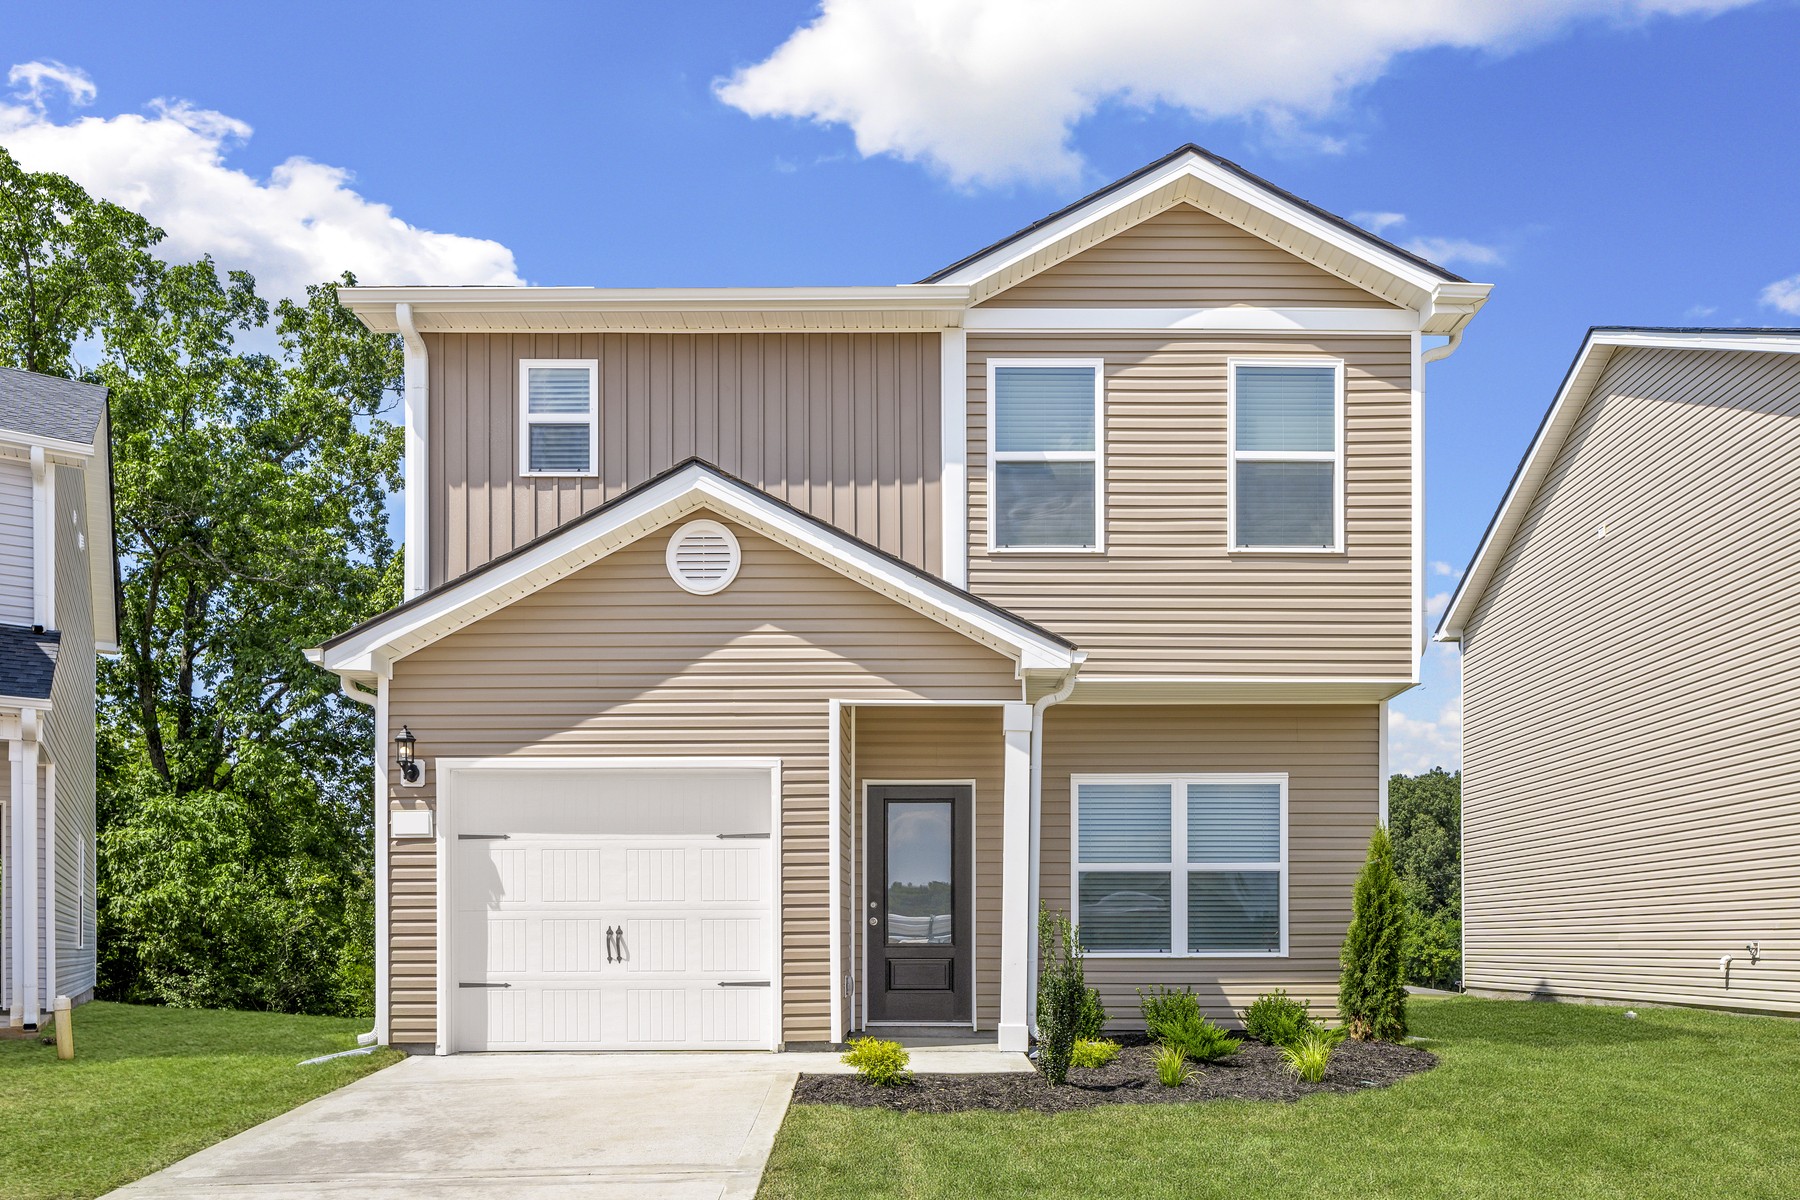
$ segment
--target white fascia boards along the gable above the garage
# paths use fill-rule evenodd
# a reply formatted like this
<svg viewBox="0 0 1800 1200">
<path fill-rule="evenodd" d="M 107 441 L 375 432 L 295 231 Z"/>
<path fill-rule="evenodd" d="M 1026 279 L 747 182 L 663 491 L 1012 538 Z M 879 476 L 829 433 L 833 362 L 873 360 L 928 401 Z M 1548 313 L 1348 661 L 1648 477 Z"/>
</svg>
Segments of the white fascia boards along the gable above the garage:
<svg viewBox="0 0 1800 1200">
<path fill-rule="evenodd" d="M 770 540 L 871 587 L 945 626 L 1006 646 L 1019 657 L 1021 671 L 1069 669 L 1076 651 L 1015 624 L 949 587 L 934 587 L 896 563 L 871 554 L 846 536 L 796 520 L 772 498 L 731 484 L 704 468 L 689 466 L 655 488 L 616 506 L 605 524 L 587 522 L 545 538 L 500 569 L 452 585 L 394 621 L 380 621 L 362 635 L 319 651 L 319 666 L 340 675 L 378 671 L 387 653 L 418 637 L 428 644 L 475 615 L 527 596 L 549 583 L 599 561 L 682 513 L 709 507 L 738 520 Z M 418 646 L 403 653 L 412 653 Z M 398 655 L 396 655 L 398 657 Z"/>
</svg>

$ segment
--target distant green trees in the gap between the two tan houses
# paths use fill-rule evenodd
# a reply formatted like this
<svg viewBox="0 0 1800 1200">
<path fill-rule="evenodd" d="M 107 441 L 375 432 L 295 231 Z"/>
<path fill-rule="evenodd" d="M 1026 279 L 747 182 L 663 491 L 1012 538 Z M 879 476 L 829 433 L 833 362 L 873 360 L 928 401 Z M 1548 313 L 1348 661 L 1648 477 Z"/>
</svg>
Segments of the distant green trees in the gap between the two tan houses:
<svg viewBox="0 0 1800 1200">
<path fill-rule="evenodd" d="M 1406 892 L 1406 979 L 1454 988 L 1462 981 L 1462 772 L 1393 775 L 1388 828 Z"/>
</svg>

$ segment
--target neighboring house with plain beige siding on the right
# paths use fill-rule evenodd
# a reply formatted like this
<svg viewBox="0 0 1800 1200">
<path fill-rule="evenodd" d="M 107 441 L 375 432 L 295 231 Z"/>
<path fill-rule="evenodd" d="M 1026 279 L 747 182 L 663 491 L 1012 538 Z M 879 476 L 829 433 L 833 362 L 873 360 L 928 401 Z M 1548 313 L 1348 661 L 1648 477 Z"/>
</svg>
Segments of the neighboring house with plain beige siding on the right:
<svg viewBox="0 0 1800 1200">
<path fill-rule="evenodd" d="M 1800 1013 L 1800 329 L 1593 329 L 1438 630 L 1463 982 Z"/>
</svg>

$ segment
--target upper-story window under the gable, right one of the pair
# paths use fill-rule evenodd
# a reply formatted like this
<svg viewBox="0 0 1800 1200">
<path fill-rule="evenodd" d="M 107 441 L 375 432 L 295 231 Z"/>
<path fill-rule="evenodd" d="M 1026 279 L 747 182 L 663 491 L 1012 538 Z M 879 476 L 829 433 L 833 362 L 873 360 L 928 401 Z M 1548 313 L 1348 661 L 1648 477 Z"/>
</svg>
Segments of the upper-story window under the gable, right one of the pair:
<svg viewBox="0 0 1800 1200">
<path fill-rule="evenodd" d="M 1345 365 L 1332 358 L 1233 358 L 1233 551 L 1345 545 Z"/>
</svg>

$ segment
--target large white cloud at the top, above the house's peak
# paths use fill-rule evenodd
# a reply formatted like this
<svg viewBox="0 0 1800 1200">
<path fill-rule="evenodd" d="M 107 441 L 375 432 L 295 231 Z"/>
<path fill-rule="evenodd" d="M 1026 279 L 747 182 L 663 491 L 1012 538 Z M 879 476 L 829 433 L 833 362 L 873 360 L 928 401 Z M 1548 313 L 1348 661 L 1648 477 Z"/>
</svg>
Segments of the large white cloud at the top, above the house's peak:
<svg viewBox="0 0 1800 1200">
<path fill-rule="evenodd" d="M 1292 133 L 1390 63 L 1433 47 L 1507 52 L 1579 20 L 1638 23 L 1751 0 L 824 0 L 767 59 L 715 88 L 752 117 L 850 126 L 864 155 L 958 184 L 1067 184 L 1102 104 L 1170 106 Z"/>
</svg>

